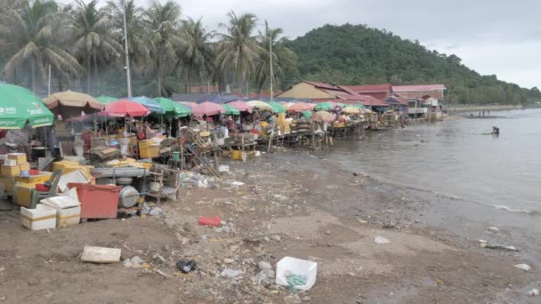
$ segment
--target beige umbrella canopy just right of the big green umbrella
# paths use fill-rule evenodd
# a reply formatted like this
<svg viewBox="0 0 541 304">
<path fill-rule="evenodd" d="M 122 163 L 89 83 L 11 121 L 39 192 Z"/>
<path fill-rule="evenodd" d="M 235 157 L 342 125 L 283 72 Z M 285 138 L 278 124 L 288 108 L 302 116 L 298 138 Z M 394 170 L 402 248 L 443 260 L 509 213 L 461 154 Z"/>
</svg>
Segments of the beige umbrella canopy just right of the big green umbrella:
<svg viewBox="0 0 541 304">
<path fill-rule="evenodd" d="M 103 104 L 92 96 L 80 92 L 57 92 L 44 99 L 44 105 L 52 113 L 60 114 L 64 118 L 93 114 L 103 110 Z"/>
</svg>

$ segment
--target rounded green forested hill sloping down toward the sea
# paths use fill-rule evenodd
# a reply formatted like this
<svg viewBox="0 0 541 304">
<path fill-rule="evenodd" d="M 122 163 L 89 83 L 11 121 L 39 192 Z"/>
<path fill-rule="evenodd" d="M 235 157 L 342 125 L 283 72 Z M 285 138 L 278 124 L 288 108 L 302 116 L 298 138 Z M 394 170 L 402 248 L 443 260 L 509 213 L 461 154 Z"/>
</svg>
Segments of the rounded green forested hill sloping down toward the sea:
<svg viewBox="0 0 541 304">
<path fill-rule="evenodd" d="M 445 84 L 448 100 L 459 103 L 525 103 L 541 100 L 537 88 L 480 76 L 456 55 L 427 50 L 391 32 L 361 25 L 326 25 L 288 42 L 298 56 L 299 74 L 335 84 Z"/>
</svg>

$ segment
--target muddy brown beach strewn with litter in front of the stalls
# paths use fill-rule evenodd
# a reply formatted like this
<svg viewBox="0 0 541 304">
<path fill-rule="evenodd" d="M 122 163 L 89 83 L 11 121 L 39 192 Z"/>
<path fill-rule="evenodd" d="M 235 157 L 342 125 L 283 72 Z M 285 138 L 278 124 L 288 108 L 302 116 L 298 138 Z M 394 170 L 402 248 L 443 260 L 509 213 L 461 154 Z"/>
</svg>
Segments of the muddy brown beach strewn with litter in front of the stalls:
<svg viewBox="0 0 541 304">
<path fill-rule="evenodd" d="M 459 200 L 375 180 L 305 151 L 224 164 L 230 173 L 208 178 L 203 188 L 183 188 L 179 201 L 159 204 L 159 217 L 46 232 L 20 228 L 16 211 L 0 212 L 0 253 L 11 252 L 0 254 L 4 276 L 11 279 L 0 285 L 0 294 L 8 302 L 36 300 L 38 291 L 54 283 L 64 287 L 49 297 L 58 302 L 79 290 L 81 301 L 292 303 L 286 300 L 291 292 L 273 280 L 254 283 L 259 261 L 274 266 L 285 256 L 319 264 L 316 284 L 299 296 L 307 303 L 327 303 L 329 295 L 335 303 L 528 301 L 526 292 L 538 278 L 536 264 L 529 272 L 513 268 L 531 265 L 526 247 L 513 243 L 521 252 L 501 252 L 476 245 L 479 238 L 508 244 L 521 234 L 508 227 L 488 232 L 501 211 L 488 212 L 486 221 L 470 219 L 464 213 L 471 207 L 464 209 Z M 220 216 L 222 225 L 198 226 L 199 216 Z M 375 244 L 376 236 L 390 243 Z M 85 244 L 122 248 L 123 259 L 138 255 L 150 267 L 82 263 L 78 254 Z M 31 250 L 37 245 L 40 251 Z M 154 259 L 156 254 L 166 261 Z M 197 260 L 196 272 L 175 269 L 176 261 L 186 259 Z M 221 275 L 225 269 L 242 274 L 227 278 Z M 101 282 L 94 282 L 96 276 Z M 126 292 L 103 292 L 103 284 Z"/>
</svg>

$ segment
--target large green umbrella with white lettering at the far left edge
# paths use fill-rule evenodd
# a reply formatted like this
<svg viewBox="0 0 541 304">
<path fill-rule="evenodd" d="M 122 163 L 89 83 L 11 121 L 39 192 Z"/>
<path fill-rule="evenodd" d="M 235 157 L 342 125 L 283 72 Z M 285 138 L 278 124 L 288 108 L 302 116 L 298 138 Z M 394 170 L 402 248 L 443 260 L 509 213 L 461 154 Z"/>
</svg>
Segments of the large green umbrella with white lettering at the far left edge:
<svg viewBox="0 0 541 304">
<path fill-rule="evenodd" d="M 51 125 L 54 116 L 36 94 L 13 84 L 0 84 L 0 129 Z"/>
</svg>

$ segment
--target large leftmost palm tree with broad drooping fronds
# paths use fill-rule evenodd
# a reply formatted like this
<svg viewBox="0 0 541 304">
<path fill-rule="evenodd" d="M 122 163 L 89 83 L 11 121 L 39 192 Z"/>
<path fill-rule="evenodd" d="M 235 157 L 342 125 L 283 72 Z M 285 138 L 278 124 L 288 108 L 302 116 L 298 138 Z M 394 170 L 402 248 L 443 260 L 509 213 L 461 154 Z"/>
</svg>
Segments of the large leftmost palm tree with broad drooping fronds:
<svg viewBox="0 0 541 304">
<path fill-rule="evenodd" d="M 82 71 L 77 59 L 59 45 L 67 44 L 69 24 L 52 0 L 23 0 L 0 18 L 0 40 L 9 42 L 13 55 L 3 73 L 14 78 L 16 70 L 29 68 L 30 87 L 37 89 L 36 76 L 45 78 L 45 68 L 51 66 L 55 75 L 69 79 Z"/>
</svg>

